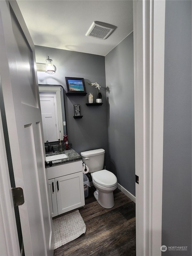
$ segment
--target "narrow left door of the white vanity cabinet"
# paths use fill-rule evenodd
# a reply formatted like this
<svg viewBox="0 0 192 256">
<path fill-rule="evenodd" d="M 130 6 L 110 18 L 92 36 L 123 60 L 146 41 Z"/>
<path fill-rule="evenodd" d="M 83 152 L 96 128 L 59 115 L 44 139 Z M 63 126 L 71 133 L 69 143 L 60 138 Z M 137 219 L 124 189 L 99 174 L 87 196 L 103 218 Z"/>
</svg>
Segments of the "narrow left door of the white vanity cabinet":
<svg viewBox="0 0 192 256">
<path fill-rule="evenodd" d="M 58 215 L 55 179 L 49 179 L 49 194 L 51 198 L 51 202 L 49 203 L 51 215 L 55 217 Z"/>
</svg>

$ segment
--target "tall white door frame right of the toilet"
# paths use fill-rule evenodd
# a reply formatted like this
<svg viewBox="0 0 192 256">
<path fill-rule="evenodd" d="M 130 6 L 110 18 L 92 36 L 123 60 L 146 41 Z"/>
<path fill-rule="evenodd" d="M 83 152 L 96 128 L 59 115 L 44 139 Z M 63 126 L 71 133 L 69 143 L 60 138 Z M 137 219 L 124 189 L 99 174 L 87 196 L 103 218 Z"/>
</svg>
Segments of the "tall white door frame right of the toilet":
<svg viewBox="0 0 192 256">
<path fill-rule="evenodd" d="M 160 256 L 165 0 L 133 1 L 136 254 Z"/>
</svg>

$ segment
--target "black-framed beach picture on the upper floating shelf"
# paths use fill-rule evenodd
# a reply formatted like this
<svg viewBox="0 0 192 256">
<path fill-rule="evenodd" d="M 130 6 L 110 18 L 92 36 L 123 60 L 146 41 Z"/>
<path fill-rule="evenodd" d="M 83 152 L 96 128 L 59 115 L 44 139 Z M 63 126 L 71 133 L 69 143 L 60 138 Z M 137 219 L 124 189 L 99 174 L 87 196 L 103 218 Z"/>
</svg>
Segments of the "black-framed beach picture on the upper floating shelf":
<svg viewBox="0 0 192 256">
<path fill-rule="evenodd" d="M 70 93 L 85 92 L 86 93 L 84 78 L 65 77 L 65 80 L 67 84 L 67 92 L 70 92 Z"/>
</svg>

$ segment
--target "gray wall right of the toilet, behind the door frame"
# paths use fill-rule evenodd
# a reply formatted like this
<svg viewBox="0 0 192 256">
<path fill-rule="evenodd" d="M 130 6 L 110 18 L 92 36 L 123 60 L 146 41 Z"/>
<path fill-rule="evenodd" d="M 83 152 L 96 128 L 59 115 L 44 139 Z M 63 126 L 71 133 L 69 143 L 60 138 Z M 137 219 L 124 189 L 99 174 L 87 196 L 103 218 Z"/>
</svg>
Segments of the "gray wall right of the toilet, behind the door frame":
<svg viewBox="0 0 192 256">
<path fill-rule="evenodd" d="M 133 32 L 105 56 L 110 171 L 135 195 Z"/>
</svg>

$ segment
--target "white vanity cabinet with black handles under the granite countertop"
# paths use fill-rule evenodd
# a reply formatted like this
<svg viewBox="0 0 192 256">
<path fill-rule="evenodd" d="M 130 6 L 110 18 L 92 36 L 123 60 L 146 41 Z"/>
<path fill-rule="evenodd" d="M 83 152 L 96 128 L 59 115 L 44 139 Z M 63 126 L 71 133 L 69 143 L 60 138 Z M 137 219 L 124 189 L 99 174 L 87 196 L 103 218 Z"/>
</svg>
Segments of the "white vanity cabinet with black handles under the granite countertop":
<svg viewBox="0 0 192 256">
<path fill-rule="evenodd" d="M 82 161 L 47 168 L 52 217 L 85 205 Z"/>
</svg>

